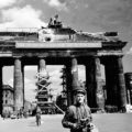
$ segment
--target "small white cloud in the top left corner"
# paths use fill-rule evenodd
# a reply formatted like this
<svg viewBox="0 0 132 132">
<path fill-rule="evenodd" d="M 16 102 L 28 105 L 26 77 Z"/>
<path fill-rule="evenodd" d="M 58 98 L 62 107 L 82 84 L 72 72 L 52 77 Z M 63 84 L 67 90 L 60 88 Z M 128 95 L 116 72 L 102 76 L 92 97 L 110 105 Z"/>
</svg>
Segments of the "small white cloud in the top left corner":
<svg viewBox="0 0 132 132">
<path fill-rule="evenodd" d="M 16 2 L 16 0 L 0 0 L 0 9 L 11 7 Z"/>
</svg>

